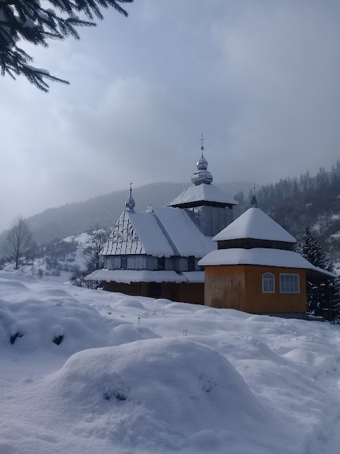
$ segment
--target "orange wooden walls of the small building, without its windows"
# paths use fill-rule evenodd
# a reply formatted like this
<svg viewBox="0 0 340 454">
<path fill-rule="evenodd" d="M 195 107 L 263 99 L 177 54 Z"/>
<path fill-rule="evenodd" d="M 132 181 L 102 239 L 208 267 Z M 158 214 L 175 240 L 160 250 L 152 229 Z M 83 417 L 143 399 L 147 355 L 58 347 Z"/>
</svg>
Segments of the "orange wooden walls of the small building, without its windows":
<svg viewBox="0 0 340 454">
<path fill-rule="evenodd" d="M 262 293 L 262 275 L 275 276 L 275 293 Z M 280 273 L 300 275 L 300 293 L 280 293 Z M 256 265 L 205 267 L 205 305 L 261 314 L 306 311 L 306 272 Z"/>
</svg>

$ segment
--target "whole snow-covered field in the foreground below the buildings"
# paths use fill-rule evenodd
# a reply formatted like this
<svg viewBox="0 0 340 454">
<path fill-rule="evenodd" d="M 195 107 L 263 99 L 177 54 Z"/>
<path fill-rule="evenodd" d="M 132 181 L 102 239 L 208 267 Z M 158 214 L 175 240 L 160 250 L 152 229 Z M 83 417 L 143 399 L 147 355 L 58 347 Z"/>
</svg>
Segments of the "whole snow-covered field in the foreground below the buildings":
<svg viewBox="0 0 340 454">
<path fill-rule="evenodd" d="M 339 326 L 9 270 L 0 290 L 1 454 L 339 453 Z"/>
</svg>

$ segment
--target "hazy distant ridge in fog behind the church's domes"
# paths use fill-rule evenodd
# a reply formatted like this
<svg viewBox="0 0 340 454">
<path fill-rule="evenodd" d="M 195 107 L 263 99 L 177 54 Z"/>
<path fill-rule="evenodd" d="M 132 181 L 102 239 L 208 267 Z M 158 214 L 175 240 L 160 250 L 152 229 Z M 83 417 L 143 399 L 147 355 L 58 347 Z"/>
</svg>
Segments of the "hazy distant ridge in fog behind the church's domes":
<svg viewBox="0 0 340 454">
<path fill-rule="evenodd" d="M 251 182 L 222 183 L 217 186 L 233 196 L 240 190 L 248 194 Z M 136 209 L 143 211 L 149 204 L 165 205 L 181 194 L 186 187 L 188 183 L 174 182 L 151 183 L 135 187 L 133 196 Z M 115 191 L 83 202 L 50 208 L 30 216 L 28 221 L 35 241 L 42 244 L 77 235 L 88 231 L 94 223 L 98 223 L 103 228 L 114 226 L 124 209 L 128 193 L 128 189 Z"/>
</svg>

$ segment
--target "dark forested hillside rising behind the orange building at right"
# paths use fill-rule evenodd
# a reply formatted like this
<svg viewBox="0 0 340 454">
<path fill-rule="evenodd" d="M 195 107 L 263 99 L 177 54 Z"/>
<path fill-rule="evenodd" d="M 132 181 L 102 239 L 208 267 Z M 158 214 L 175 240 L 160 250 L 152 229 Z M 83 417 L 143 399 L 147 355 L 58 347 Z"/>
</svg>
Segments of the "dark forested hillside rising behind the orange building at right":
<svg viewBox="0 0 340 454">
<path fill-rule="evenodd" d="M 251 196 L 236 194 L 240 212 L 249 208 Z M 256 197 L 259 208 L 295 237 L 311 228 L 333 259 L 340 260 L 340 160 L 330 172 L 321 167 L 314 177 L 306 172 L 261 186 Z"/>
</svg>

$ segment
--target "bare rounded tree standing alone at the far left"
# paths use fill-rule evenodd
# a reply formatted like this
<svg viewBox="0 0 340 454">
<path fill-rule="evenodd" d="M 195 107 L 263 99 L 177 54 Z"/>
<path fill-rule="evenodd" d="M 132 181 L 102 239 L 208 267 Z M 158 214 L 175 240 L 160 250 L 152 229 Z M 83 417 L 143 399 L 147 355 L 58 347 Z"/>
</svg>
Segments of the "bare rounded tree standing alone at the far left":
<svg viewBox="0 0 340 454">
<path fill-rule="evenodd" d="M 32 233 L 28 222 L 23 216 L 18 216 L 11 223 L 4 243 L 6 255 L 9 260 L 14 260 L 16 270 L 21 265 L 21 260 L 29 250 L 31 243 Z"/>
</svg>

